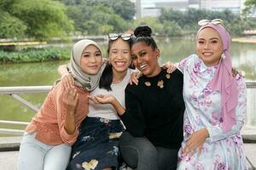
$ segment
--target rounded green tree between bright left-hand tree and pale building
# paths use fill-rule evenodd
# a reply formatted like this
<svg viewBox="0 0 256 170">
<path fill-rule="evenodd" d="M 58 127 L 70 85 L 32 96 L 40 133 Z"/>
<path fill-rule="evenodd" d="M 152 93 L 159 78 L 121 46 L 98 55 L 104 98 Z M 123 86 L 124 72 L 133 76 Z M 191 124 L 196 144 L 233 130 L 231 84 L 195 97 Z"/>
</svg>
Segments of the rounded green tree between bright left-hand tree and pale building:
<svg viewBox="0 0 256 170">
<path fill-rule="evenodd" d="M 125 31 L 133 19 L 134 4 L 126 0 L 61 0 L 67 15 L 74 21 L 75 31 L 98 35 Z"/>
</svg>

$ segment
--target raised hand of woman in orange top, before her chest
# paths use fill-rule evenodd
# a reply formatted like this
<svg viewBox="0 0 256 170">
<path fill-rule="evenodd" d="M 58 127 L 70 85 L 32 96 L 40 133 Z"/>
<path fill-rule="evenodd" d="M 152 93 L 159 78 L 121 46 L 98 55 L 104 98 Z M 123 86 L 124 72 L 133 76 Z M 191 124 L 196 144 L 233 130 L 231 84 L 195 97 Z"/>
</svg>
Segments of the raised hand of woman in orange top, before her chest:
<svg viewBox="0 0 256 170">
<path fill-rule="evenodd" d="M 75 88 L 67 88 L 62 96 L 63 103 L 66 106 L 67 112 L 75 113 L 78 103 L 79 94 Z"/>
</svg>

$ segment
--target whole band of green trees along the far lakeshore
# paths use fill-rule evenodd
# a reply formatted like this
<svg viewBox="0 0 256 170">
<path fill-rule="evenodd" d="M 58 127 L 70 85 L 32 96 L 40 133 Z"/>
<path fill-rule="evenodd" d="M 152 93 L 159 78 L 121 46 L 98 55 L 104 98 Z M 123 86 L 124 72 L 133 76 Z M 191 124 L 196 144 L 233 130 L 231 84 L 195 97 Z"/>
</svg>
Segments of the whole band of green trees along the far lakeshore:
<svg viewBox="0 0 256 170">
<path fill-rule="evenodd" d="M 255 11 L 256 0 L 245 4 L 247 12 Z M 127 0 L 0 0 L 0 38 L 102 35 L 142 24 L 152 27 L 155 35 L 175 37 L 196 33 L 199 20 L 216 18 L 235 35 L 256 28 L 255 19 L 230 10 L 161 8 L 159 17 L 135 20 L 134 16 L 135 4 Z"/>
</svg>

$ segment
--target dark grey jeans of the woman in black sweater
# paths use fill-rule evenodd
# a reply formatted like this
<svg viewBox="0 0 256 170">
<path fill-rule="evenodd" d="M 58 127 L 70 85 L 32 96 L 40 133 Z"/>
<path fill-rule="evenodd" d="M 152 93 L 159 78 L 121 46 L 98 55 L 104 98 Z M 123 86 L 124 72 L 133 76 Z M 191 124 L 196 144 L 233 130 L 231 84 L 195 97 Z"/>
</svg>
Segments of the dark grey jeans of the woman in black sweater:
<svg viewBox="0 0 256 170">
<path fill-rule="evenodd" d="M 119 150 L 125 163 L 137 170 L 174 170 L 177 151 L 154 146 L 147 138 L 136 138 L 125 132 L 119 139 Z"/>
</svg>

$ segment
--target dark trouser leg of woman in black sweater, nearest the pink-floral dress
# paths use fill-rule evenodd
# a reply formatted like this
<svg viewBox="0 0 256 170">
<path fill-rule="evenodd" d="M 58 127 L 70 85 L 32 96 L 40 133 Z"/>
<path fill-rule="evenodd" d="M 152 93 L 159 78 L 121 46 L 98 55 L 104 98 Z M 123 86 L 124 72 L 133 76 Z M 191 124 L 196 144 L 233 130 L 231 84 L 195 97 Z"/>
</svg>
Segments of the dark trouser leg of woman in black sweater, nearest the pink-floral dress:
<svg viewBox="0 0 256 170">
<path fill-rule="evenodd" d="M 157 150 L 157 163 L 159 170 L 176 170 L 177 169 L 177 151 L 156 147 Z"/>
</svg>

